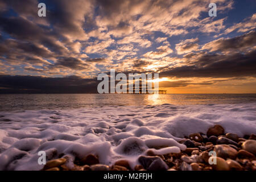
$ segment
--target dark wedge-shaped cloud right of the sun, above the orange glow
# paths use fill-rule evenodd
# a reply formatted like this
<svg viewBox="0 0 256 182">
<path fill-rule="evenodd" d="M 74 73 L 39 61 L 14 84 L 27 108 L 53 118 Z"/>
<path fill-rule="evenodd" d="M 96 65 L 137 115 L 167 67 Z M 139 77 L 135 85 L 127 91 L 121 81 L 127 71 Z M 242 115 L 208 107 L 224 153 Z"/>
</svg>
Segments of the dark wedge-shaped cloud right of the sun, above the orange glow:
<svg viewBox="0 0 256 182">
<path fill-rule="evenodd" d="M 169 68 L 161 77 L 256 77 L 256 50 L 247 54 L 200 55 L 194 65 Z"/>
</svg>

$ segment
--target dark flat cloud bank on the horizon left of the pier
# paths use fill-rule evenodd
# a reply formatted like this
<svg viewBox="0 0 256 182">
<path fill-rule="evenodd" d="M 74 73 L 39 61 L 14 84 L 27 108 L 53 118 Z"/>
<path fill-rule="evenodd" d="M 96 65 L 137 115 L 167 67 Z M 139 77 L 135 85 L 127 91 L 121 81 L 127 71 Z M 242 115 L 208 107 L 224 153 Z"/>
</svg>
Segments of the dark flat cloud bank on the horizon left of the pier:
<svg viewBox="0 0 256 182">
<path fill-rule="evenodd" d="M 96 93 L 98 81 L 77 76 L 0 76 L 0 93 Z M 2 89 L 1 89 L 2 88 Z"/>
</svg>

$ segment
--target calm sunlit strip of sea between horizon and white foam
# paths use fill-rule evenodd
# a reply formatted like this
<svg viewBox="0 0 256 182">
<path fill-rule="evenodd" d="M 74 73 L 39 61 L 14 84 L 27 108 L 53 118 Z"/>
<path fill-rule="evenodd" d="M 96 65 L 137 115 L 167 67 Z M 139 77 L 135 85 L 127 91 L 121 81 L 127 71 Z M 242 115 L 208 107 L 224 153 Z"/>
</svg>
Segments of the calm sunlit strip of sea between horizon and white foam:
<svg viewBox="0 0 256 182">
<path fill-rule="evenodd" d="M 0 94 L 0 110 L 73 109 L 104 105 L 256 103 L 256 94 Z"/>
</svg>

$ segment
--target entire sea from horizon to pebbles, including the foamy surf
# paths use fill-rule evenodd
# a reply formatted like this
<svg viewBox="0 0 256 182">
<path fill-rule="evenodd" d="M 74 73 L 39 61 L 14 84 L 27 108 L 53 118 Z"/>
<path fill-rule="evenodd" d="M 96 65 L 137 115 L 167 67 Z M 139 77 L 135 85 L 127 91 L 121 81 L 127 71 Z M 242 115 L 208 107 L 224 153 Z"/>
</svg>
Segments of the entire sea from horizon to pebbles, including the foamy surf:
<svg viewBox="0 0 256 182">
<path fill-rule="evenodd" d="M 139 155 L 179 153 L 179 140 L 216 124 L 256 134 L 255 94 L 10 94 L 0 96 L 0 170 L 40 170 L 47 160 L 88 154 L 112 165 Z M 167 146 L 160 150 L 159 146 Z"/>
</svg>

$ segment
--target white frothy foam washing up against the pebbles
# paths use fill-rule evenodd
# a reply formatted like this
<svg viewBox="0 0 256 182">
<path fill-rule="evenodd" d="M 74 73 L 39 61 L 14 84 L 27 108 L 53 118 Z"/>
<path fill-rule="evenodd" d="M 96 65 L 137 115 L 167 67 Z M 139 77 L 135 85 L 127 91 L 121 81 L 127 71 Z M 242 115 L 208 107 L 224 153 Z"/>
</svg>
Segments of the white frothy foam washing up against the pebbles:
<svg viewBox="0 0 256 182">
<path fill-rule="evenodd" d="M 0 112 L 0 170 L 39 170 L 38 151 L 48 160 L 96 154 L 100 163 L 137 164 L 155 154 L 185 150 L 181 138 L 219 124 L 243 137 L 256 133 L 256 104 L 104 106 L 72 110 Z"/>
</svg>

